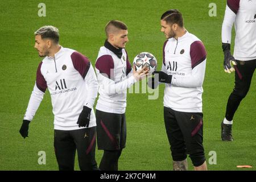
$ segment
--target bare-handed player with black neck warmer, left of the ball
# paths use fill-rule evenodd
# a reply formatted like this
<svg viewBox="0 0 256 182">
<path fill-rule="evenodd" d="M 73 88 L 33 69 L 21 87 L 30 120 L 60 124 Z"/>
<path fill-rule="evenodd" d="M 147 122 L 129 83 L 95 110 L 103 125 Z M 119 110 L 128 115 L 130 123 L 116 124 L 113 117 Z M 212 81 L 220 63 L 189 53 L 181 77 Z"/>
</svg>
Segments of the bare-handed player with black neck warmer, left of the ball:
<svg viewBox="0 0 256 182">
<path fill-rule="evenodd" d="M 97 145 L 98 150 L 104 150 L 99 168 L 117 171 L 126 144 L 126 90 L 146 77 L 148 68 L 137 72 L 131 68 L 125 50 L 128 42 L 125 23 L 111 20 L 105 32 L 107 40 L 95 64 L 100 93 L 96 105 Z"/>
</svg>

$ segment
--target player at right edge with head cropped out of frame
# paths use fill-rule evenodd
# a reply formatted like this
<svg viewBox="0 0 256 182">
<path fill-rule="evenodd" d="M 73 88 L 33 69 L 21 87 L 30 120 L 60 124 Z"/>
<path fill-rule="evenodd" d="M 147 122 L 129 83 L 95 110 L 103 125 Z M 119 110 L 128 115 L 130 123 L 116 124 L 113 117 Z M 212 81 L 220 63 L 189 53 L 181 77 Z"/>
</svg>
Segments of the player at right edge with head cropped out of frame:
<svg viewBox="0 0 256 182">
<path fill-rule="evenodd" d="M 236 38 L 234 56 L 230 52 L 232 27 Z M 224 52 L 224 71 L 235 72 L 235 85 L 226 105 L 226 114 L 221 122 L 221 139 L 232 141 L 233 117 L 251 85 L 256 68 L 256 1 L 228 0 L 222 24 L 222 49 Z M 232 63 L 234 68 L 232 67 Z"/>
</svg>

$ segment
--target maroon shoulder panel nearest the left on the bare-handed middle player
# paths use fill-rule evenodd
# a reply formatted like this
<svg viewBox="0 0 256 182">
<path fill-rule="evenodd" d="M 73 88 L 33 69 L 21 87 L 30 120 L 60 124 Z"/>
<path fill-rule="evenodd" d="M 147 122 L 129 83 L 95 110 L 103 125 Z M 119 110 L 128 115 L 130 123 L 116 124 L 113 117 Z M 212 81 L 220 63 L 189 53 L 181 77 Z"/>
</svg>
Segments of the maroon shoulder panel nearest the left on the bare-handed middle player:
<svg viewBox="0 0 256 182">
<path fill-rule="evenodd" d="M 114 80 L 114 60 L 110 55 L 103 55 L 96 61 L 95 67 L 102 75 Z"/>
</svg>

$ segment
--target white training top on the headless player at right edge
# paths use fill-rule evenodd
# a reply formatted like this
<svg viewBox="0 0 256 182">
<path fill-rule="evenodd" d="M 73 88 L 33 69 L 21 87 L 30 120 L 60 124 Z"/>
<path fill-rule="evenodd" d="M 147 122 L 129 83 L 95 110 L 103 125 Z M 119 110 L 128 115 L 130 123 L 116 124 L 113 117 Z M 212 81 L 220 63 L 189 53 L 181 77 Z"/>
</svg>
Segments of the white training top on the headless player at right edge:
<svg viewBox="0 0 256 182">
<path fill-rule="evenodd" d="M 234 58 L 241 61 L 256 59 L 256 1 L 227 1 L 222 43 L 231 43 L 233 23 L 236 30 Z"/>
</svg>

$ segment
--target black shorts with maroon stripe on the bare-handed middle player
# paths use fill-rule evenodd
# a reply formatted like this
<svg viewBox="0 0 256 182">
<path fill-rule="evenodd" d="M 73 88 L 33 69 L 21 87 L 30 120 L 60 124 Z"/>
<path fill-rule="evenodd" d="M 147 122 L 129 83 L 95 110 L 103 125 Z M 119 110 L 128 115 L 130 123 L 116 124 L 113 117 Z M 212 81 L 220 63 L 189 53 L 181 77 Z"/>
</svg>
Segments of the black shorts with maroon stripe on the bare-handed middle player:
<svg viewBox="0 0 256 182">
<path fill-rule="evenodd" d="M 96 110 L 98 150 L 122 150 L 126 144 L 125 114 Z"/>
</svg>

